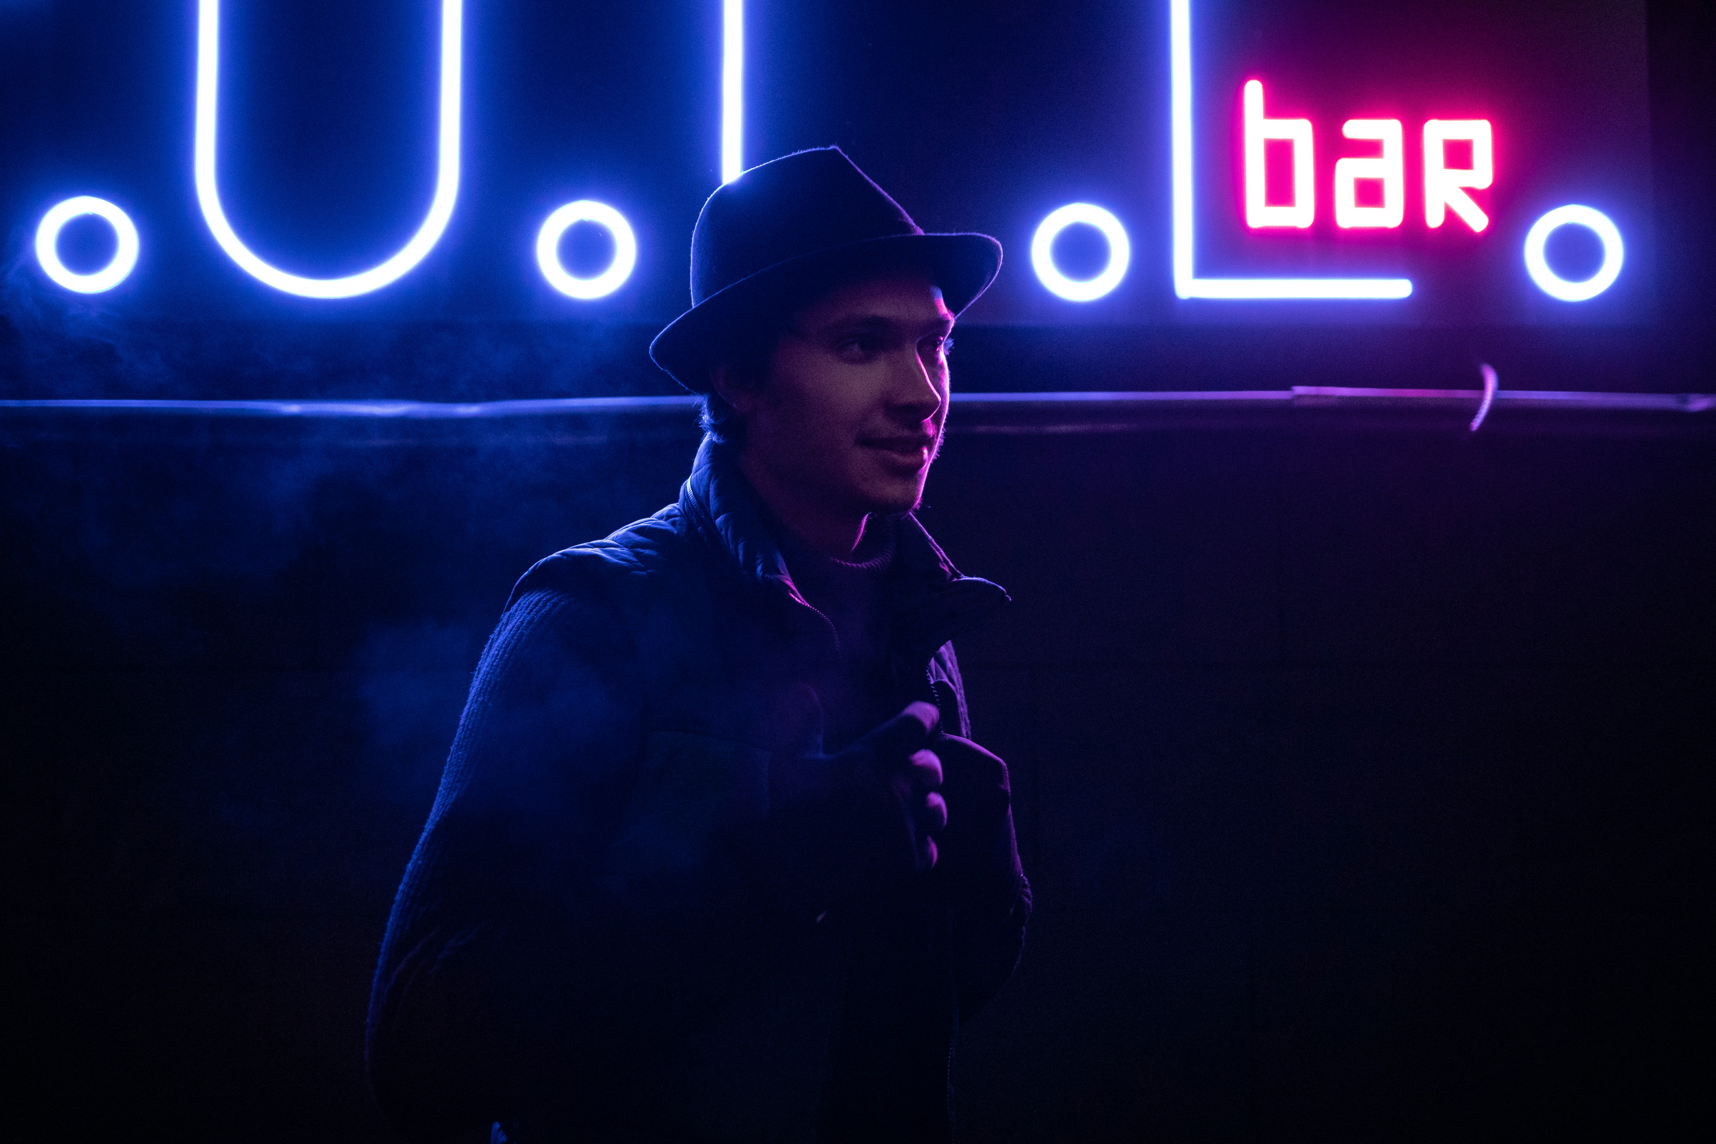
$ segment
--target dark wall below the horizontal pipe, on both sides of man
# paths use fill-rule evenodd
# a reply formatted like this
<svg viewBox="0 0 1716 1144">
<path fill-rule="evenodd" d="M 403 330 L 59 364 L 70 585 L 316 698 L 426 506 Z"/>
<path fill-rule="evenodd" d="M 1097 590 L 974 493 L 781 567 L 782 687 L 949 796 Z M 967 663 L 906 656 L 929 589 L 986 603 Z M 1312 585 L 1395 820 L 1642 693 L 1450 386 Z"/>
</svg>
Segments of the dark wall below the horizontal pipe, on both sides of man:
<svg viewBox="0 0 1716 1144">
<path fill-rule="evenodd" d="M 1699 417 L 956 410 L 923 518 L 1038 894 L 975 1141 L 1707 1120 Z M 7 1139 L 384 1141 L 360 1033 L 468 674 L 683 412 L 0 422 Z"/>
</svg>

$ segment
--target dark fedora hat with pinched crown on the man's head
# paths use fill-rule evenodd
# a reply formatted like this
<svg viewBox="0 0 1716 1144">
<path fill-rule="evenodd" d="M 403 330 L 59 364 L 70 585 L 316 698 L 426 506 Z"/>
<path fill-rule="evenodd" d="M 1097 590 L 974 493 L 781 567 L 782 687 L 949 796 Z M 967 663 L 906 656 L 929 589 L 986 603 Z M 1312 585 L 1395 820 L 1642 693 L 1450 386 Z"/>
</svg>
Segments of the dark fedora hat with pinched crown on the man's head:
<svg viewBox="0 0 1716 1144">
<path fill-rule="evenodd" d="M 746 331 L 820 286 L 865 269 L 918 266 L 958 314 L 1000 269 L 988 235 L 927 235 L 839 148 L 753 166 L 709 196 L 692 232 L 692 309 L 649 346 L 692 393 Z"/>
</svg>

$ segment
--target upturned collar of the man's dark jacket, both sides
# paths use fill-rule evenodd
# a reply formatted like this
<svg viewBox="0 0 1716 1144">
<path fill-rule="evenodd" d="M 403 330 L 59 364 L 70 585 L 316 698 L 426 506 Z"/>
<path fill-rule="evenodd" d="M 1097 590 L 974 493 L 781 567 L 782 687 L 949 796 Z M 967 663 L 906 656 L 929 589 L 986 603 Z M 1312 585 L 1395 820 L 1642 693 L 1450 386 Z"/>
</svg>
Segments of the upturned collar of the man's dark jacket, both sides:
<svg viewBox="0 0 1716 1144">
<path fill-rule="evenodd" d="M 704 437 L 680 509 L 724 552 L 738 573 L 770 595 L 805 605 L 786 569 L 781 547 L 764 523 L 762 506 L 731 451 Z M 913 513 L 897 521 L 889 595 L 901 650 L 928 659 L 939 647 L 1007 602 L 1000 585 L 964 576 Z"/>
</svg>

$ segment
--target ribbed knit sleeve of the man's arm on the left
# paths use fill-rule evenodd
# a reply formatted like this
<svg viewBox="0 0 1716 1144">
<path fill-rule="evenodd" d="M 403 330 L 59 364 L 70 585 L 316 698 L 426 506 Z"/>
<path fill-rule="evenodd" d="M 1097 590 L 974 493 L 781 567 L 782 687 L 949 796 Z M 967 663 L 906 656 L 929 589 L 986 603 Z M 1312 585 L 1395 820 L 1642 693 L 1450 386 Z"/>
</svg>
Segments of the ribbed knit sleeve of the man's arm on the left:
<svg viewBox="0 0 1716 1144">
<path fill-rule="evenodd" d="M 597 592 L 527 592 L 491 636 L 371 995 L 371 1084 L 408 1139 L 554 1118 L 736 978 L 758 926 L 719 868 L 683 871 L 693 909 L 613 892 L 644 691 Z"/>
</svg>

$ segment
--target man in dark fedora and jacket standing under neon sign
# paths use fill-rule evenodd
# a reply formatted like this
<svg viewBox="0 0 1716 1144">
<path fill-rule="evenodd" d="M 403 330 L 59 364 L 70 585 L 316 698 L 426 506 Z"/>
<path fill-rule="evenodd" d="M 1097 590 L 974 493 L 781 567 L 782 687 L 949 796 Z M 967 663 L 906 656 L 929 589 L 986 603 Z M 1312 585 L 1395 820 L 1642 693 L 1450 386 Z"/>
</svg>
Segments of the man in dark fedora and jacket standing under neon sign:
<svg viewBox="0 0 1716 1144">
<path fill-rule="evenodd" d="M 513 590 L 393 907 L 407 1135 L 951 1137 L 1030 888 L 949 643 L 1006 595 L 911 509 L 999 266 L 832 148 L 710 196 L 650 346 L 705 394 L 692 477 Z"/>
</svg>

